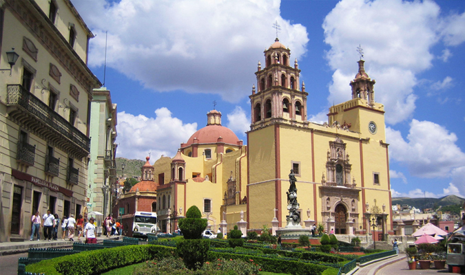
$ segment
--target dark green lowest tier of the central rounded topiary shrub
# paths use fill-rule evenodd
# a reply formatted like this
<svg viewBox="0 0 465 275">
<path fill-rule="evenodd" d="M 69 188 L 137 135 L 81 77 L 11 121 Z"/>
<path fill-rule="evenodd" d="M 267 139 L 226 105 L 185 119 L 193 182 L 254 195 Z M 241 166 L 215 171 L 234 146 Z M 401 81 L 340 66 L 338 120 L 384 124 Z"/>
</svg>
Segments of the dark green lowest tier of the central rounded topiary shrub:
<svg viewBox="0 0 465 275">
<path fill-rule="evenodd" d="M 209 239 L 189 239 L 178 243 L 177 252 L 189 270 L 198 270 L 207 259 L 209 247 Z"/>
</svg>

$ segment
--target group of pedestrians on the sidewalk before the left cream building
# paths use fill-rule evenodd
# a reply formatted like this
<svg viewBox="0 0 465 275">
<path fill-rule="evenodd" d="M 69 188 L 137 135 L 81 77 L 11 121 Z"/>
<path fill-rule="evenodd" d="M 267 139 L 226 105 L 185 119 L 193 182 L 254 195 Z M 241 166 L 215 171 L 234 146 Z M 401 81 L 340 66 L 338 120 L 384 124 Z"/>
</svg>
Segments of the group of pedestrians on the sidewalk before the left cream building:
<svg viewBox="0 0 465 275">
<path fill-rule="evenodd" d="M 42 223 L 43 220 L 43 223 Z M 74 232 L 77 233 L 78 241 L 81 241 L 81 236 L 85 236 L 85 243 L 96 243 L 95 235 L 95 219 L 91 217 L 88 223 L 85 223 L 83 216 L 80 214 L 78 219 L 74 219 L 74 214 L 70 217 L 63 216 L 59 219 L 58 214 L 52 214 L 47 210 L 46 214 L 41 217 L 39 211 L 32 216 L 32 233 L 30 241 L 34 241 L 34 236 L 37 235 L 37 241 L 41 239 L 40 228 L 43 226 L 43 236 L 48 241 L 56 241 L 58 239 L 58 228 L 61 225 L 61 239 L 65 241 L 66 231 L 68 230 L 68 239 L 74 241 Z M 85 223 L 85 227 L 84 227 Z"/>
</svg>

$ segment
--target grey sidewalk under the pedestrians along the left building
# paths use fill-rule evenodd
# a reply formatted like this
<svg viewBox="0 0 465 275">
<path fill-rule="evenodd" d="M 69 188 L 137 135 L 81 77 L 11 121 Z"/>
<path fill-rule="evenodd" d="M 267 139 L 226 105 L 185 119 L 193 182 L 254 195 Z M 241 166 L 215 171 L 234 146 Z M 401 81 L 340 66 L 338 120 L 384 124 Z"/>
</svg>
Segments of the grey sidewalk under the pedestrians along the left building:
<svg viewBox="0 0 465 275">
<path fill-rule="evenodd" d="M 102 243 L 105 239 L 118 240 L 123 239 L 123 236 L 98 236 L 97 243 Z M 74 237 L 74 242 L 83 243 L 85 238 L 81 237 L 81 241 L 77 240 L 77 236 Z M 10 254 L 19 254 L 28 252 L 30 248 L 72 248 L 73 241 L 63 241 L 59 239 L 58 241 L 48 241 L 41 239 L 40 241 L 20 241 L 20 242 L 5 242 L 0 243 L 0 256 L 10 255 Z"/>
</svg>

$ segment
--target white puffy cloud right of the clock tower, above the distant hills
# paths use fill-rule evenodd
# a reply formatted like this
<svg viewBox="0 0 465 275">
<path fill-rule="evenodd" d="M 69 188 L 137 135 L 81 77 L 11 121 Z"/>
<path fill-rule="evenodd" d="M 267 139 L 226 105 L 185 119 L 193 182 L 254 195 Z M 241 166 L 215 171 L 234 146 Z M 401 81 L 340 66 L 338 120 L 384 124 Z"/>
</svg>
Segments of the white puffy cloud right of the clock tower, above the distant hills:
<svg viewBox="0 0 465 275">
<path fill-rule="evenodd" d="M 412 120 L 406 140 L 400 131 L 386 128 L 390 157 L 409 167 L 415 177 L 451 177 L 465 167 L 465 153 L 455 144 L 457 135 L 428 121 Z"/>
</svg>

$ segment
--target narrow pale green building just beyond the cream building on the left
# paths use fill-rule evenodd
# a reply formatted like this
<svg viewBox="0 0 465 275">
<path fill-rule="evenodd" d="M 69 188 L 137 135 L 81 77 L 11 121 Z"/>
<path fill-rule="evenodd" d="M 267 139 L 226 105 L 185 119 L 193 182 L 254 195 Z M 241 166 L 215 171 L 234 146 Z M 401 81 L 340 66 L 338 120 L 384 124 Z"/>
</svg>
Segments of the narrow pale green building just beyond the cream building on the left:
<svg viewBox="0 0 465 275">
<path fill-rule="evenodd" d="M 116 199 L 116 104 L 105 87 L 94 89 L 90 107 L 90 162 L 87 211 L 111 212 Z"/>
</svg>

